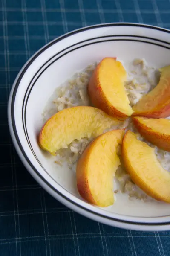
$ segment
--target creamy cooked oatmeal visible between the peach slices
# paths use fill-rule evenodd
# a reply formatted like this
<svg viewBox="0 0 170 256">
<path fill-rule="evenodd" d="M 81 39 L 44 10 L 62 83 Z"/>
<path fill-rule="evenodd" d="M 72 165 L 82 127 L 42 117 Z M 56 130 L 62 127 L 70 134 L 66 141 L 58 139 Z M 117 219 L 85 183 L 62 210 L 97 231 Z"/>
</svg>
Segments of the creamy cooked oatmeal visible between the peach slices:
<svg viewBox="0 0 170 256">
<path fill-rule="evenodd" d="M 66 81 L 55 91 L 55 99 L 52 100 L 52 107 L 43 113 L 44 122 L 54 113 L 61 111 L 65 108 L 70 108 L 78 105 L 91 106 L 89 96 L 87 94 L 87 85 L 89 78 L 97 64 L 91 64 L 86 67 L 81 73 L 76 73 L 72 79 Z M 158 71 L 149 67 L 145 60 L 133 60 L 127 72 L 127 81 L 125 82 L 125 89 L 130 101 L 130 106 L 133 107 L 141 97 L 152 90 L 158 83 Z M 163 151 L 151 143 L 144 140 L 144 138 L 134 128 L 131 118 L 128 118 L 122 125 L 116 128 L 127 128 L 138 135 L 138 140 L 145 141 L 148 145 L 155 148 L 156 156 L 161 163 L 162 167 L 170 172 L 170 152 Z M 115 129 L 115 128 L 112 128 Z M 106 131 L 104 131 L 106 132 Z M 68 164 L 71 171 L 75 171 L 76 164 L 86 146 L 94 138 L 82 138 L 81 140 L 73 140 L 67 148 L 60 149 L 56 152 L 54 161 L 57 165 L 62 166 L 63 162 Z M 118 156 L 121 160 L 121 150 L 118 149 Z M 129 198 L 138 198 L 142 201 L 154 200 L 147 196 L 130 178 L 127 174 L 121 160 L 121 166 L 115 174 L 116 188 L 115 193 L 126 193 Z"/>
</svg>

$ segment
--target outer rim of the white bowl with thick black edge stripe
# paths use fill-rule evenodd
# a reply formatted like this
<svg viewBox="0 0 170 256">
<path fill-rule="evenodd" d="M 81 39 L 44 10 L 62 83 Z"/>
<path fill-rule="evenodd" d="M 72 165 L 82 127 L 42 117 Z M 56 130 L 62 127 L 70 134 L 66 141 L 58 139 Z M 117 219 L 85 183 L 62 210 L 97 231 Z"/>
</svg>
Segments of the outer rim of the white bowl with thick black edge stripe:
<svg viewBox="0 0 170 256">
<path fill-rule="evenodd" d="M 9 123 L 9 131 L 12 137 L 12 141 L 14 143 L 15 149 L 17 150 L 17 153 L 20 157 L 20 159 L 22 160 L 24 166 L 26 167 L 26 169 L 30 172 L 30 174 L 35 178 L 35 180 L 37 180 L 37 182 L 47 191 L 49 192 L 53 197 L 57 198 L 59 201 L 61 201 L 62 203 L 64 202 L 64 204 L 66 206 L 68 206 L 71 209 L 75 210 L 75 207 L 78 208 L 76 209 L 77 212 L 83 214 L 83 215 L 87 215 L 88 213 L 94 216 L 91 216 L 90 218 L 96 220 L 96 218 L 104 218 L 102 220 L 100 220 L 101 222 L 105 222 L 105 221 L 112 221 L 115 222 L 114 226 L 120 227 L 120 224 L 125 224 L 127 226 L 127 228 L 129 228 L 129 225 L 131 226 L 130 228 L 132 229 L 136 229 L 136 225 L 140 226 L 140 228 L 138 227 L 137 230 L 158 230 L 158 227 L 162 226 L 161 230 L 167 230 L 170 229 L 170 221 L 164 221 L 164 222 L 138 222 L 138 221 L 129 221 L 129 220 L 121 220 L 115 217 L 109 217 L 109 216 L 105 216 L 101 213 L 98 212 L 94 212 L 91 209 L 87 209 L 84 206 L 81 206 L 80 204 L 76 203 L 74 200 L 71 200 L 70 198 L 67 198 L 66 195 L 63 195 L 61 192 L 58 191 L 58 189 L 56 189 L 54 186 L 52 186 L 41 174 L 40 172 L 37 171 L 37 169 L 35 169 L 34 165 L 32 164 L 32 162 L 29 160 L 29 158 L 26 156 L 22 143 L 19 140 L 19 137 L 17 137 L 17 130 L 15 127 L 15 123 L 13 122 L 14 120 L 14 99 L 15 99 L 15 95 L 17 93 L 17 88 L 20 84 L 20 81 L 22 79 L 22 76 L 24 75 L 24 73 L 26 72 L 26 70 L 28 69 L 28 67 L 32 64 L 32 62 L 42 53 L 44 52 L 46 49 L 48 49 L 49 47 L 51 47 L 53 44 L 58 43 L 59 41 L 63 40 L 64 38 L 67 38 L 71 35 L 75 35 L 76 33 L 79 32 L 84 32 L 86 30 L 90 30 L 90 29 L 96 29 L 96 28 L 101 28 L 101 27 L 109 27 L 109 26 L 137 26 L 137 27 L 143 27 L 143 28 L 149 28 L 149 29 L 156 29 L 162 32 L 167 32 L 170 34 L 170 30 L 168 29 L 164 29 L 164 28 L 160 28 L 158 26 L 151 26 L 151 25 L 146 25 L 146 24 L 142 24 L 142 23 L 102 23 L 102 24 L 96 24 L 96 25 L 92 25 L 92 26 L 86 26 L 84 28 L 80 28 L 80 29 L 76 29 L 73 30 L 71 32 L 68 32 L 64 35 L 61 35 L 58 38 L 55 38 L 54 40 L 50 41 L 48 44 L 46 44 L 45 46 L 43 46 L 42 48 L 40 48 L 37 52 L 35 52 L 34 55 L 32 55 L 31 58 L 29 58 L 29 60 L 26 62 L 26 64 L 22 67 L 22 69 L 20 70 L 20 72 L 18 73 L 16 79 L 14 80 L 14 83 L 12 85 L 12 89 L 10 92 L 10 96 L 9 96 L 9 102 L 8 102 L 8 123 Z M 83 212 L 83 213 L 82 213 Z M 97 216 L 97 217 L 96 217 Z M 86 216 L 88 217 L 88 216 Z M 167 217 L 167 216 L 166 216 Z M 160 217 L 153 217 L 152 220 L 157 219 Z M 163 216 L 161 216 L 161 218 L 165 218 Z M 147 220 L 147 218 L 145 218 Z M 119 224 L 118 224 L 119 223 Z M 107 223 L 108 224 L 108 223 Z M 147 226 L 147 229 L 144 228 L 144 226 Z M 167 228 L 168 226 L 168 228 Z M 156 228 L 156 229 L 155 229 Z M 159 228 L 160 229 L 160 228 Z"/>
</svg>

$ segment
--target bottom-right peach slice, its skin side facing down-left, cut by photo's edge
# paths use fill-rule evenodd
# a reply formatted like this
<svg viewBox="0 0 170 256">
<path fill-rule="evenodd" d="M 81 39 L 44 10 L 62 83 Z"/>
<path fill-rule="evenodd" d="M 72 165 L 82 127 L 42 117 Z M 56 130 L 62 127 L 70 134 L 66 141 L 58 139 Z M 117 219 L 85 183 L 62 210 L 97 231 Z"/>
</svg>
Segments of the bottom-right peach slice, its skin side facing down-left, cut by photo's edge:
<svg viewBox="0 0 170 256">
<path fill-rule="evenodd" d="M 154 148 L 127 131 L 122 142 L 122 158 L 136 185 L 158 201 L 170 203 L 170 173 L 162 168 Z"/>
</svg>

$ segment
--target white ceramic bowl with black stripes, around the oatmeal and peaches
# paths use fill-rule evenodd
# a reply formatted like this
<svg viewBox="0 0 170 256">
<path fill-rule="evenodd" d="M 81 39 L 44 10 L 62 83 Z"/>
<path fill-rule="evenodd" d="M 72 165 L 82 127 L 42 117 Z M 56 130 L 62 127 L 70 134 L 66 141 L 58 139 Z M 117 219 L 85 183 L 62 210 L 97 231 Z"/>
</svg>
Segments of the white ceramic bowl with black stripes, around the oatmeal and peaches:
<svg viewBox="0 0 170 256">
<path fill-rule="evenodd" d="M 9 128 L 23 164 L 53 197 L 76 212 L 115 227 L 133 230 L 170 230 L 170 205 L 118 196 L 101 209 L 78 194 L 75 173 L 46 158 L 37 144 L 42 112 L 52 93 L 76 71 L 104 57 L 126 62 L 145 58 L 154 67 L 170 64 L 170 31 L 154 26 L 109 23 L 63 35 L 40 49 L 14 81 L 8 108 Z"/>
</svg>

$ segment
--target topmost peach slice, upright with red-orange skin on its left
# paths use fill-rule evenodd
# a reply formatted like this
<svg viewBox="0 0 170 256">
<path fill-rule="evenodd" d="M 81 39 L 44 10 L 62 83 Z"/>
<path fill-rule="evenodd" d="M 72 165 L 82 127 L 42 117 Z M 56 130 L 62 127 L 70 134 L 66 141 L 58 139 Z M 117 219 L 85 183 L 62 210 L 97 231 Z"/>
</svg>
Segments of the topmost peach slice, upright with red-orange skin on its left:
<svg viewBox="0 0 170 256">
<path fill-rule="evenodd" d="M 125 91 L 127 74 L 121 62 L 104 58 L 95 68 L 88 84 L 89 97 L 95 105 L 109 116 L 121 119 L 131 116 L 133 109 Z"/>
</svg>

